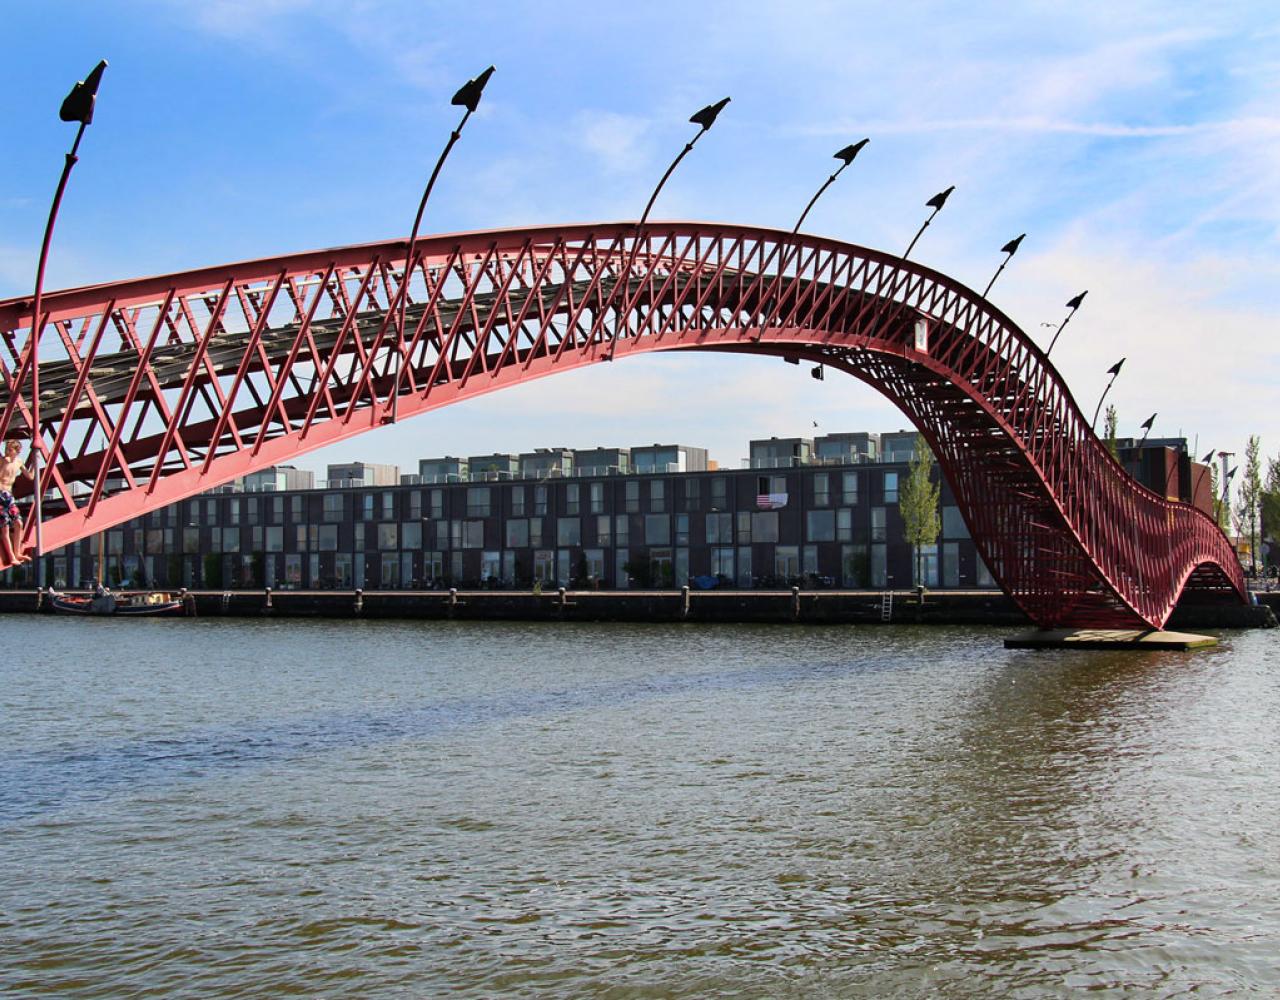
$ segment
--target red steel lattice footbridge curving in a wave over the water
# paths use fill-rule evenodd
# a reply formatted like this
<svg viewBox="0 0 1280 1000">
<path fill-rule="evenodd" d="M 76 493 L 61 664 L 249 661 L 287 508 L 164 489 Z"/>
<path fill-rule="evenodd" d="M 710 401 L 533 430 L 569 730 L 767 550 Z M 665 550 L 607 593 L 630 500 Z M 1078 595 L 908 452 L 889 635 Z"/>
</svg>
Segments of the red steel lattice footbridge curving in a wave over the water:
<svg viewBox="0 0 1280 1000">
<path fill-rule="evenodd" d="M 439 236 L 408 266 L 407 250 L 74 288 L 35 319 L 29 302 L 0 302 L 0 434 L 35 433 L 45 549 L 393 415 L 648 351 L 737 351 L 823 364 L 893 401 L 992 575 L 1039 625 L 1158 627 L 1184 592 L 1245 599 L 1213 520 L 1135 483 L 1032 339 L 919 264 L 701 223 Z"/>
</svg>

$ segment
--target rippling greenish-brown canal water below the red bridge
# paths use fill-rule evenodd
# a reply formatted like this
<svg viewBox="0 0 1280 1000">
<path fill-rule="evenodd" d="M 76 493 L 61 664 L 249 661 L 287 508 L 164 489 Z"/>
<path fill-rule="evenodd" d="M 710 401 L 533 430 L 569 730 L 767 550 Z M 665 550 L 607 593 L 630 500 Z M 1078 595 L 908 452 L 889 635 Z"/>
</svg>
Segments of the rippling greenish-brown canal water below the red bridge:
<svg viewBox="0 0 1280 1000">
<path fill-rule="evenodd" d="M 0 994 L 1280 990 L 1275 633 L 4 625 Z"/>
</svg>

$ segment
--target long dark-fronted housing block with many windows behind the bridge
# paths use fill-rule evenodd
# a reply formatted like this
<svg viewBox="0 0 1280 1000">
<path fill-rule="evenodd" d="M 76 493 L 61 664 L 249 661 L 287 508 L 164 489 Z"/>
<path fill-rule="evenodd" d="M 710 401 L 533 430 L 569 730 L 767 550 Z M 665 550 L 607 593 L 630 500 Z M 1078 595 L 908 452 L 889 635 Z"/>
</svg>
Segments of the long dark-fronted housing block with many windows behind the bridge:
<svg viewBox="0 0 1280 1000">
<path fill-rule="evenodd" d="M 563 469 L 562 449 L 547 455 Z M 908 464 L 865 456 L 776 469 L 643 474 L 634 466 L 553 478 L 539 470 L 498 481 L 476 475 L 472 458 L 471 480 L 460 483 L 220 488 L 105 531 L 105 579 L 195 589 L 993 586 L 946 483 L 942 530 L 923 547 L 916 580 L 899 512 Z M 1185 451 L 1156 448 L 1133 462 L 1143 479 L 1171 476 L 1178 496 L 1193 492 L 1196 469 L 1184 458 Z M 95 536 L 50 553 L 46 579 L 92 581 L 97 545 Z M 27 580 L 29 571 L 9 574 L 10 584 Z"/>
</svg>

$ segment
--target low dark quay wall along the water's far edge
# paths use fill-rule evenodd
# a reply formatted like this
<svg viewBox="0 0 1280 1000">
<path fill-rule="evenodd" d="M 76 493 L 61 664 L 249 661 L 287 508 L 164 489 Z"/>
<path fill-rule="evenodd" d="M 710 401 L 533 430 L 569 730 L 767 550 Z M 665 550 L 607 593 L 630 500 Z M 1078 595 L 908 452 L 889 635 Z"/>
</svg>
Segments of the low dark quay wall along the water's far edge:
<svg viewBox="0 0 1280 1000">
<path fill-rule="evenodd" d="M 1271 597 L 1280 607 L 1280 593 Z M 1254 607 L 1179 608 L 1170 627 L 1248 629 L 1275 624 Z M 859 625 L 1028 625 L 992 590 L 195 590 L 200 617 L 460 618 L 472 621 L 692 621 Z M 0 592 L 0 611 L 46 611 L 35 590 Z"/>
</svg>

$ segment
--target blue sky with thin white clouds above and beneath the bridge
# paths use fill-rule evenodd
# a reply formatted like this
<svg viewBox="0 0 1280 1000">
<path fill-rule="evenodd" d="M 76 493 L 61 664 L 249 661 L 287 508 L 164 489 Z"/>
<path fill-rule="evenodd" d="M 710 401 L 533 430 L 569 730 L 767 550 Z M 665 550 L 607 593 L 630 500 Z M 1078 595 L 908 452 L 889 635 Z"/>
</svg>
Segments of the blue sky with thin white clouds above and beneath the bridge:
<svg viewBox="0 0 1280 1000">
<path fill-rule="evenodd" d="M 434 232 L 639 215 L 689 115 L 733 102 L 654 218 L 790 228 L 836 149 L 872 142 L 806 229 L 982 287 L 1055 350 L 1085 411 L 1120 356 L 1121 431 L 1280 453 L 1280 18 L 1274 3 L 456 5 L 387 0 L 8 4 L 0 296 L 29 293 L 72 127 L 110 60 L 51 287 L 407 234 L 456 122 L 498 70 L 428 209 Z M 650 356 L 428 414 L 300 460 L 678 440 L 736 467 L 751 437 L 896 429 L 851 379 Z M 817 433 L 820 433 L 817 431 Z"/>
</svg>

